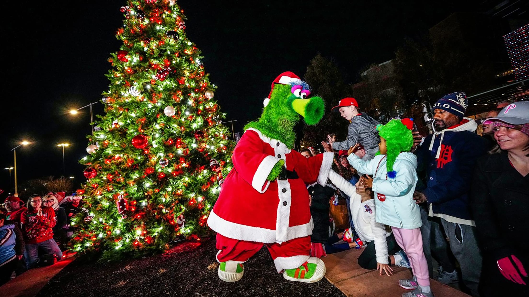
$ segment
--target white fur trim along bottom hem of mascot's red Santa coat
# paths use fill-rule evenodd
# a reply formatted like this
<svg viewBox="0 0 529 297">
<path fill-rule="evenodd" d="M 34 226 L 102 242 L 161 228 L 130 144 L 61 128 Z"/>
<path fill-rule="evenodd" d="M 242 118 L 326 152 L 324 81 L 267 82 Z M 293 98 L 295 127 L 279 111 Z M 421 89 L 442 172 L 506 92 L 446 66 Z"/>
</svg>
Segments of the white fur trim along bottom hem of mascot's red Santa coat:
<svg viewBox="0 0 529 297">
<path fill-rule="evenodd" d="M 276 239 L 276 230 L 241 225 L 234 222 L 230 222 L 217 216 L 213 211 L 209 213 L 209 217 L 207 218 L 207 225 L 216 233 L 233 239 L 265 244 L 278 242 L 278 240 Z M 312 221 L 311 217 L 311 220 L 307 224 L 288 227 L 287 235 L 284 238 L 285 240 L 281 240 L 281 242 L 286 242 L 290 239 L 298 237 L 312 235 L 313 228 L 314 222 Z"/>
</svg>

